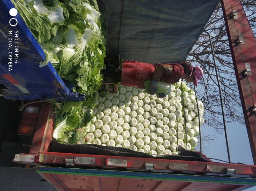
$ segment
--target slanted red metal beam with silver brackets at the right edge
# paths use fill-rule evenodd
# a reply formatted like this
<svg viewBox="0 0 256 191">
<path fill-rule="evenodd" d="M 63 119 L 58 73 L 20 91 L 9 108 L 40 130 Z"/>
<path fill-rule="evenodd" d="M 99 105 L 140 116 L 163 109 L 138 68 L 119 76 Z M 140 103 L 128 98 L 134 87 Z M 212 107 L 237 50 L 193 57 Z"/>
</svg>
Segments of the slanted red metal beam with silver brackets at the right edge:
<svg viewBox="0 0 256 191">
<path fill-rule="evenodd" d="M 245 124 L 256 164 L 256 40 L 240 0 L 221 0 Z"/>
</svg>

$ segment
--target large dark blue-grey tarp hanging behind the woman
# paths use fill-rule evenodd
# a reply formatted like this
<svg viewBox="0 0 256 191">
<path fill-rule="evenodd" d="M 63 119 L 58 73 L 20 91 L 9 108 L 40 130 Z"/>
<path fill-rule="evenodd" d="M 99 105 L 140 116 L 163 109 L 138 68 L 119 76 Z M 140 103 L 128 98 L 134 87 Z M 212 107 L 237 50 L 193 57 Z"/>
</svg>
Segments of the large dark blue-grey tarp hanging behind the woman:
<svg viewBox="0 0 256 191">
<path fill-rule="evenodd" d="M 219 0 L 97 0 L 105 16 L 107 56 L 180 63 Z"/>
</svg>

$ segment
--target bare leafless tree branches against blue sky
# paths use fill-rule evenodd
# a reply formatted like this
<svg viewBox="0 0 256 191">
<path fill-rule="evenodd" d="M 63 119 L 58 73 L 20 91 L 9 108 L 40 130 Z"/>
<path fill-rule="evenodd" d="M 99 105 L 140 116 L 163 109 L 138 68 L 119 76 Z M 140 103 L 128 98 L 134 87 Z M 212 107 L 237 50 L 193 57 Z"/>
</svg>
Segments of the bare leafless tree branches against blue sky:
<svg viewBox="0 0 256 191">
<path fill-rule="evenodd" d="M 256 0 L 242 0 L 244 11 L 256 36 Z M 212 14 L 204 31 L 211 34 L 215 52 L 215 60 L 218 68 L 220 87 L 225 108 L 226 123 L 238 121 L 244 124 L 241 101 L 236 83 L 235 71 L 232 62 L 228 36 L 223 18 L 221 4 Z M 219 88 L 216 79 L 209 37 L 202 33 L 195 46 L 189 53 L 187 60 L 194 65 L 199 65 L 204 70 L 204 78 L 197 89 L 198 98 L 204 103 L 205 123 L 221 132 L 223 121 L 220 107 Z"/>
</svg>

